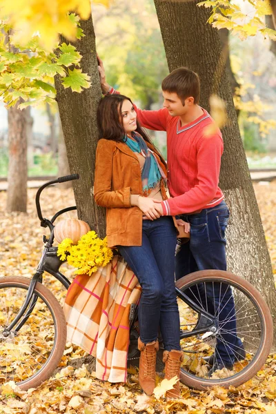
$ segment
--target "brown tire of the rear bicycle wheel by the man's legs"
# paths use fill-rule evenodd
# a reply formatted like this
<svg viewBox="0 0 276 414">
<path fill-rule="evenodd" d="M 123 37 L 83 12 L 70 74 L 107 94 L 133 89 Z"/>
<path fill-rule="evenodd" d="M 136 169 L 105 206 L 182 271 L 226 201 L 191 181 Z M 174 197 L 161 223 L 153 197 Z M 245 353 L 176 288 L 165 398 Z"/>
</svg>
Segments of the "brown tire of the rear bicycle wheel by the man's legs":
<svg viewBox="0 0 276 414">
<path fill-rule="evenodd" d="M 177 280 L 175 286 L 177 286 L 177 288 L 179 288 L 182 292 L 186 290 L 186 293 L 187 293 L 191 290 L 192 286 L 197 286 L 197 285 L 206 286 L 208 282 L 215 282 L 223 286 L 228 285 L 234 289 L 237 289 L 237 292 L 240 293 L 241 297 L 242 295 L 245 295 L 244 297 L 247 297 L 248 301 L 250 301 L 250 303 L 253 304 L 253 306 L 255 306 L 254 311 L 256 311 L 257 313 L 253 314 L 254 319 L 252 320 L 254 324 L 257 324 L 257 322 L 255 322 L 256 317 L 258 317 L 260 320 L 259 322 L 259 326 L 261 327 L 259 330 L 260 333 L 254 334 L 254 335 L 259 335 L 259 345 L 258 347 L 256 345 L 257 351 L 254 357 L 252 357 L 252 355 L 250 355 L 248 351 L 248 354 L 247 353 L 245 354 L 246 357 L 244 357 L 244 360 L 245 360 L 244 363 L 240 362 L 242 360 L 242 358 L 240 358 L 239 364 L 241 366 L 244 366 L 244 368 L 242 368 L 237 373 L 235 373 L 235 371 L 231 371 L 233 372 L 233 375 L 229 377 L 222 377 L 222 378 L 209 377 L 208 378 L 206 377 L 206 375 L 197 376 L 195 375 L 195 373 L 188 372 L 187 369 L 184 368 L 184 366 L 181 366 L 180 380 L 183 384 L 186 384 L 187 386 L 191 388 L 197 388 L 199 390 L 206 390 L 207 388 L 210 388 L 212 386 L 218 386 L 218 385 L 224 386 L 226 388 L 228 388 L 229 386 L 239 386 L 241 384 L 244 384 L 244 382 L 250 380 L 250 378 L 252 378 L 262 368 L 262 366 L 266 362 L 266 358 L 273 344 L 273 319 L 270 315 L 269 308 L 266 302 L 264 301 L 262 295 L 259 293 L 259 291 L 253 285 L 247 282 L 245 279 L 242 279 L 242 277 L 239 277 L 237 275 L 233 275 L 233 273 L 229 273 L 224 270 L 199 270 L 195 273 L 190 273 L 189 275 L 186 275 L 182 277 L 181 279 Z M 195 287 L 194 287 L 194 291 L 195 291 Z M 178 297 L 178 300 L 179 300 L 179 297 Z M 237 308 L 236 304 L 235 304 L 235 308 L 236 308 L 235 318 L 238 320 L 237 315 L 239 313 L 239 309 Z M 250 312 L 253 313 L 252 310 Z M 245 313 L 245 315 L 244 317 L 239 317 L 239 319 L 246 319 L 244 323 L 247 324 L 247 326 L 253 325 L 249 323 L 250 322 L 249 318 L 251 317 L 249 314 L 249 311 L 246 311 L 245 309 L 244 311 L 240 311 L 240 314 L 242 313 Z M 248 313 L 249 316 L 246 315 L 246 313 Z M 238 323 L 240 324 L 241 322 L 238 322 Z M 225 322 L 224 322 L 224 325 L 225 325 Z M 222 327 L 224 325 L 221 324 Z M 254 328 L 251 328 L 251 329 L 253 329 L 253 331 L 241 331 L 245 333 L 244 335 L 245 338 L 250 336 L 248 335 L 248 332 L 250 333 L 257 332 L 257 331 L 254 331 Z M 239 335 L 239 331 L 237 331 L 237 335 Z M 199 335 L 197 335 L 197 338 L 198 337 Z M 249 341 L 246 341 L 246 342 L 248 342 L 249 344 Z M 251 344 L 251 346 L 255 346 L 255 344 Z M 244 347 L 244 344 L 243 344 L 243 347 Z M 193 352 L 193 351 L 187 351 L 187 349 L 188 348 L 186 348 L 186 352 L 188 353 Z M 203 358 L 201 356 L 201 360 L 202 359 Z M 238 366 L 238 369 L 239 368 L 240 367 Z M 228 371 L 228 373 L 230 373 L 230 371 Z"/>
</svg>

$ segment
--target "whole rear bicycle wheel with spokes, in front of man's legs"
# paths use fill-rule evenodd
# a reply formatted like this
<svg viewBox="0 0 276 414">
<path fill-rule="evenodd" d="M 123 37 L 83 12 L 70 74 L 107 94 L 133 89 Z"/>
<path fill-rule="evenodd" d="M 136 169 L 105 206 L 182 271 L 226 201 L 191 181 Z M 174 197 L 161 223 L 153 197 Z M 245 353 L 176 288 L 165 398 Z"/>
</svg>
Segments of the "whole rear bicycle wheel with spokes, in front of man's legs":
<svg viewBox="0 0 276 414">
<path fill-rule="evenodd" d="M 254 286 L 246 280 L 223 270 L 201 270 L 190 273 L 176 282 L 200 308 L 215 315 L 217 331 L 193 335 L 200 315 L 178 297 L 181 332 L 190 331 L 190 337 L 181 339 L 184 362 L 180 379 L 184 384 L 205 390 L 210 386 L 239 386 L 259 371 L 270 352 L 273 342 L 273 320 L 266 302 Z M 212 294 L 213 292 L 213 294 Z M 216 293 L 215 293 L 216 292 Z M 235 305 L 225 312 L 231 293 Z M 216 299 L 214 299 L 216 298 Z M 221 317 L 223 315 L 223 317 Z M 236 319 L 236 328 L 228 328 Z M 241 342 L 237 339 L 242 340 Z M 218 343 L 231 346 L 233 367 L 226 367 L 210 375 L 211 368 L 204 357 L 219 357 Z M 233 344 L 236 346 L 233 346 Z M 238 344 L 239 342 L 239 344 Z M 237 345 L 238 344 L 238 345 Z M 228 352 L 228 351 L 227 351 Z"/>
</svg>

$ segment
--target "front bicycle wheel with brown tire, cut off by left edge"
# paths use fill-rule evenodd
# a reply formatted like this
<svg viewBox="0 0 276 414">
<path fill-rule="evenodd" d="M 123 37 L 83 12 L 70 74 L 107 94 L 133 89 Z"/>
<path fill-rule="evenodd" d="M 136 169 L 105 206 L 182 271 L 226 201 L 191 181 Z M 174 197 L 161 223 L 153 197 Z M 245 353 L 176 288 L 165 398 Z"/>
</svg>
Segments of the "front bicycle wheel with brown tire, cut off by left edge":
<svg viewBox="0 0 276 414">
<path fill-rule="evenodd" d="M 35 388 L 50 377 L 66 345 L 62 308 L 40 283 L 34 289 L 37 302 L 28 309 L 28 320 L 17 333 L 13 328 L 8 337 L 3 335 L 19 313 L 29 286 L 26 277 L 0 278 L 0 386 L 14 381 L 22 390 Z"/>
</svg>

